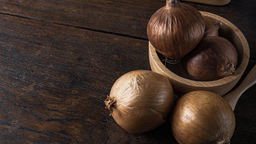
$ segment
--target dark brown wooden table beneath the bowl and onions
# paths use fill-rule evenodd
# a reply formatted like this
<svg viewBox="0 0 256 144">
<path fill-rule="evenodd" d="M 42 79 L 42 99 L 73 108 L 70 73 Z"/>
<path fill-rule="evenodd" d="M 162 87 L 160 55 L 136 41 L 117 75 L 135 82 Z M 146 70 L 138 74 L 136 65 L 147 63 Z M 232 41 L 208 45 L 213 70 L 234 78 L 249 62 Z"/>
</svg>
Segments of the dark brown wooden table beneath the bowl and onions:
<svg viewBox="0 0 256 144">
<path fill-rule="evenodd" d="M 256 1 L 184 2 L 228 19 L 256 64 Z M 147 22 L 165 0 L 0 0 L 1 144 L 176 144 L 169 121 L 126 132 L 105 109 L 114 81 L 150 70 Z M 241 80 L 242 80 L 241 79 Z M 241 83 L 241 80 L 239 83 Z M 235 109 L 232 144 L 256 142 L 256 86 Z"/>
</svg>

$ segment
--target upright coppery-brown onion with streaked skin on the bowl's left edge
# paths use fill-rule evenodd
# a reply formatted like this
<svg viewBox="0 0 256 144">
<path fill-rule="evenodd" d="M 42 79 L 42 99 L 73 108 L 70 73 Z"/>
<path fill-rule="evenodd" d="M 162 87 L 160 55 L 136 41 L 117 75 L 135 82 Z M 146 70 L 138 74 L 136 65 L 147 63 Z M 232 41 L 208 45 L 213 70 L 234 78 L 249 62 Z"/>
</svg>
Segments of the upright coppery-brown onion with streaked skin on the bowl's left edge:
<svg viewBox="0 0 256 144">
<path fill-rule="evenodd" d="M 149 20 L 147 35 L 154 48 L 171 60 L 180 60 L 198 45 L 205 25 L 197 9 L 166 0 L 166 6 L 156 11 Z"/>
</svg>

